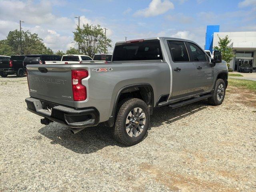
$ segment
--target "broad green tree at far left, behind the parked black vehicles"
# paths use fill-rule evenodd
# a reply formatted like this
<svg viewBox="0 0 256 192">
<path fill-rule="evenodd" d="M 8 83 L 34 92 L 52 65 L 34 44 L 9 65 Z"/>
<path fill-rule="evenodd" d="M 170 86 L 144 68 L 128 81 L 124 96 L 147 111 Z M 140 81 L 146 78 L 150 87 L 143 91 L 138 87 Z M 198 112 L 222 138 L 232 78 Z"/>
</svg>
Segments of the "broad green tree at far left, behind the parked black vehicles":
<svg viewBox="0 0 256 192">
<path fill-rule="evenodd" d="M 53 51 L 44 45 L 38 34 L 22 30 L 21 37 L 20 41 L 20 31 L 16 29 L 10 31 L 6 38 L 6 44 L 12 47 L 13 54 L 53 54 Z"/>
</svg>

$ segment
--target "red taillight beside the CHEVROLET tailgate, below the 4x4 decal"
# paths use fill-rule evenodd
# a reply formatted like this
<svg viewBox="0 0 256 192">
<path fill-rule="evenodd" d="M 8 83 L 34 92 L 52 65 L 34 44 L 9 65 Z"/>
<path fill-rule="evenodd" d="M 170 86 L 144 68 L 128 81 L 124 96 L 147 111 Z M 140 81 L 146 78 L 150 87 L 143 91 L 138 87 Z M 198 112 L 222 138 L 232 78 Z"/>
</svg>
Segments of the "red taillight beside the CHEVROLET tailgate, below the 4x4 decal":
<svg viewBox="0 0 256 192">
<path fill-rule="evenodd" d="M 74 101 L 83 101 L 87 98 L 86 87 L 82 85 L 82 79 L 88 77 L 87 70 L 72 70 L 72 90 Z"/>
</svg>

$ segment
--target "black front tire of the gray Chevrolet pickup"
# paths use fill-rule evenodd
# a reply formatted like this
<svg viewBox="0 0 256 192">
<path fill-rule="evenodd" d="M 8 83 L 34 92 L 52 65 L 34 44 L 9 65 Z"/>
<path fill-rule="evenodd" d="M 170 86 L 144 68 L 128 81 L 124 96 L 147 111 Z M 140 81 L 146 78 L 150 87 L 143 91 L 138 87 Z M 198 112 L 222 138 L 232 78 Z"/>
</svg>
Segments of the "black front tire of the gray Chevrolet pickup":
<svg viewBox="0 0 256 192">
<path fill-rule="evenodd" d="M 218 88 L 219 88 L 219 86 L 222 87 L 221 85 L 223 86 L 223 91 L 221 91 L 221 93 L 220 93 Z M 212 94 L 212 97 L 208 98 L 208 103 L 211 105 L 215 105 L 215 106 L 222 104 L 225 94 L 226 94 L 226 84 L 225 84 L 224 80 L 217 79 L 215 88 L 214 88 L 214 92 Z M 220 99 L 220 95 L 222 96 L 221 99 Z"/>
</svg>

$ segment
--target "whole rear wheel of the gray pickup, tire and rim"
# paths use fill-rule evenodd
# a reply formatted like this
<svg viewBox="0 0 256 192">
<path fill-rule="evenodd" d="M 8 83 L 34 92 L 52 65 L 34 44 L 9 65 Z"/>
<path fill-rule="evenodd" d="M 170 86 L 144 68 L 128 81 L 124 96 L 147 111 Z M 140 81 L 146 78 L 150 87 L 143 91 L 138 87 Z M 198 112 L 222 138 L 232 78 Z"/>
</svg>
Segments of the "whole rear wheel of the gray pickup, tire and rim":
<svg viewBox="0 0 256 192">
<path fill-rule="evenodd" d="M 149 121 L 149 108 L 143 100 L 125 99 L 118 104 L 114 138 L 122 144 L 135 145 L 146 135 Z"/>
</svg>

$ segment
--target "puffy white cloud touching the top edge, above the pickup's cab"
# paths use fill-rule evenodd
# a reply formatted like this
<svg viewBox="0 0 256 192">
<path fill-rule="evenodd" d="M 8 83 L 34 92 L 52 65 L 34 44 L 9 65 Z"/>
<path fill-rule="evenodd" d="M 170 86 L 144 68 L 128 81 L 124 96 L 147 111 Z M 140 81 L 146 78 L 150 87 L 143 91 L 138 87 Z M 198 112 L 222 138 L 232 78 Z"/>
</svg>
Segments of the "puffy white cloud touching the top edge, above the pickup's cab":
<svg viewBox="0 0 256 192">
<path fill-rule="evenodd" d="M 169 0 L 152 0 L 147 8 L 136 11 L 134 16 L 157 16 L 166 13 L 170 9 L 174 9 L 174 5 Z"/>
</svg>

